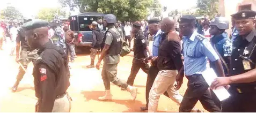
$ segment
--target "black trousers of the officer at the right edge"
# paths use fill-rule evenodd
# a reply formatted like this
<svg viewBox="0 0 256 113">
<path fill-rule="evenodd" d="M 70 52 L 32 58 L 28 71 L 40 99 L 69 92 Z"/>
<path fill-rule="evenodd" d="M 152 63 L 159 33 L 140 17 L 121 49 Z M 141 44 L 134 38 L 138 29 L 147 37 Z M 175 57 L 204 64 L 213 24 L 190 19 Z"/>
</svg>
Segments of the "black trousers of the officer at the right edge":
<svg viewBox="0 0 256 113">
<path fill-rule="evenodd" d="M 222 101 L 222 112 L 256 112 L 256 89 L 238 93 L 235 87 L 229 88 L 231 96 Z"/>
</svg>

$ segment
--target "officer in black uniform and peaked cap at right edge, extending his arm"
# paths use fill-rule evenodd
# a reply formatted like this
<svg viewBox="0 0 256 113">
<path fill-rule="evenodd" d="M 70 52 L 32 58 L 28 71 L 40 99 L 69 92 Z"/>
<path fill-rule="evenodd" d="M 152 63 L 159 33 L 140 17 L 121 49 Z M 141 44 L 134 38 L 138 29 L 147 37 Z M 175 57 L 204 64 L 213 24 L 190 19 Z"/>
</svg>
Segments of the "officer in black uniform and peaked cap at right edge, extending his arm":
<svg viewBox="0 0 256 113">
<path fill-rule="evenodd" d="M 256 30 L 255 11 L 232 15 L 239 35 L 233 41 L 230 74 L 213 81 L 211 88 L 229 87 L 231 96 L 222 103 L 222 112 L 256 112 Z"/>
</svg>

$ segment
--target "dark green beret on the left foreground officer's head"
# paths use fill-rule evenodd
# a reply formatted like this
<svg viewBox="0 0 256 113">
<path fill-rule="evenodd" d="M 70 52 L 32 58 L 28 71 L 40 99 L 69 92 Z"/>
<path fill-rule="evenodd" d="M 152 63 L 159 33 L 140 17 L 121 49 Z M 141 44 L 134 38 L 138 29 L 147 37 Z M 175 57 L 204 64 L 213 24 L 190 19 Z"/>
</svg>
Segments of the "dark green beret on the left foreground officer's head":
<svg viewBox="0 0 256 113">
<path fill-rule="evenodd" d="M 36 20 L 26 22 L 21 27 L 25 31 L 28 31 L 35 28 L 47 27 L 48 25 L 49 23 L 47 21 L 36 19 Z"/>
</svg>

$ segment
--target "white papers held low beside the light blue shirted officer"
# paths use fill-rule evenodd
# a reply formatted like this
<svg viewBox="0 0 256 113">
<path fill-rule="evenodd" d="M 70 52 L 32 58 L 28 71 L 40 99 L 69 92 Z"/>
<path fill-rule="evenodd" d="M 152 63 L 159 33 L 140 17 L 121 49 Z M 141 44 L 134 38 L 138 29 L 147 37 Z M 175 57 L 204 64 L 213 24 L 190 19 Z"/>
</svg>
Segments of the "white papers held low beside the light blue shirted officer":
<svg viewBox="0 0 256 113">
<path fill-rule="evenodd" d="M 213 82 L 214 79 L 217 78 L 217 74 L 211 68 L 208 68 L 206 69 L 206 71 L 203 71 L 202 76 L 204 80 L 206 80 L 209 86 L 211 85 L 211 82 Z M 215 95 L 218 97 L 220 101 L 228 99 L 228 97 L 230 96 L 229 92 L 223 86 L 218 87 L 217 89 L 214 89 L 213 92 L 215 93 Z"/>
</svg>

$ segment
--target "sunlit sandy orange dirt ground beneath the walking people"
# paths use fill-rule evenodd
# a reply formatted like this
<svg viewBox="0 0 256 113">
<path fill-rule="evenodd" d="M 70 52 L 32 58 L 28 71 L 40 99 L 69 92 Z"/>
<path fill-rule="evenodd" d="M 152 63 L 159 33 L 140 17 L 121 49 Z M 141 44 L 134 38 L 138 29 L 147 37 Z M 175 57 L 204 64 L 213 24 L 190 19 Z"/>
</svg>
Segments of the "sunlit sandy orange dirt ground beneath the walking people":
<svg viewBox="0 0 256 113">
<path fill-rule="evenodd" d="M 16 81 L 18 73 L 18 63 L 15 56 L 9 56 L 10 49 L 5 46 L 0 50 L 0 112 L 34 112 L 34 105 L 37 101 L 33 85 L 33 64 L 30 63 L 23 80 L 20 82 L 16 93 L 11 92 L 11 87 Z M 97 59 L 97 58 L 96 58 Z M 130 74 L 133 52 L 125 57 L 121 57 L 118 65 L 118 78 L 127 80 Z M 97 62 L 98 60 L 96 60 Z M 72 69 L 70 77 L 70 87 L 68 92 L 72 97 L 71 112 L 141 112 L 140 107 L 145 106 L 145 84 L 147 74 L 140 70 L 134 82 L 138 87 L 138 94 L 135 101 L 131 101 L 127 91 L 121 91 L 118 86 L 111 85 L 113 95 L 112 101 L 98 101 L 99 96 L 104 94 L 104 84 L 101 79 L 101 70 L 86 69 L 90 64 L 89 52 L 78 55 L 74 63 L 70 63 Z M 184 95 L 187 88 L 187 79 L 180 89 L 180 94 Z M 196 108 L 203 109 L 200 102 Z M 178 112 L 179 106 L 166 96 L 160 96 L 159 112 Z M 204 110 L 205 111 L 205 110 Z"/>
</svg>

